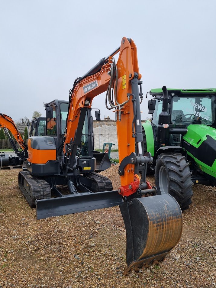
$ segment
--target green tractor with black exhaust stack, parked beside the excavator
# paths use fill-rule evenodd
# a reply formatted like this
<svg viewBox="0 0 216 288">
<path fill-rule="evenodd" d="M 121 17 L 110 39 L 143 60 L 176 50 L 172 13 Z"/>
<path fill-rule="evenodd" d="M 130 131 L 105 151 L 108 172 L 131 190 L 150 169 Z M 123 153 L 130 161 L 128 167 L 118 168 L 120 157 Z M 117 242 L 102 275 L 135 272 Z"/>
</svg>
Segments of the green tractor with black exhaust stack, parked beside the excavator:
<svg viewBox="0 0 216 288">
<path fill-rule="evenodd" d="M 168 193 L 182 210 L 193 183 L 216 186 L 216 89 L 152 89 L 151 121 L 143 123 L 143 152 L 153 163 L 158 194 Z"/>
</svg>

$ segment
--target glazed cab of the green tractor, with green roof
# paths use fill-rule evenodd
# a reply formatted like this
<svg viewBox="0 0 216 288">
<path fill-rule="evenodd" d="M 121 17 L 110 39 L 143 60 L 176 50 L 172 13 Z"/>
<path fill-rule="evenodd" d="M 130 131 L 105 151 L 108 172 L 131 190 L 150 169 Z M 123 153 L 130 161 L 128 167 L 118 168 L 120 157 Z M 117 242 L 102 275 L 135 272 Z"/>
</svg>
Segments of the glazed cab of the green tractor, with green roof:
<svg viewBox="0 0 216 288">
<path fill-rule="evenodd" d="M 190 124 L 207 125 L 216 128 L 216 89 L 167 89 L 168 90 L 168 112 L 171 128 L 184 129 Z M 162 89 L 152 89 L 150 95 L 154 95 L 155 109 L 152 115 L 154 134 L 158 126 L 159 115 L 163 105 Z M 152 100 L 149 100 L 152 101 Z M 176 131 L 176 130 L 174 130 Z M 183 133 L 182 133 L 183 134 Z M 180 145 L 182 134 L 170 134 L 169 144 Z"/>
</svg>

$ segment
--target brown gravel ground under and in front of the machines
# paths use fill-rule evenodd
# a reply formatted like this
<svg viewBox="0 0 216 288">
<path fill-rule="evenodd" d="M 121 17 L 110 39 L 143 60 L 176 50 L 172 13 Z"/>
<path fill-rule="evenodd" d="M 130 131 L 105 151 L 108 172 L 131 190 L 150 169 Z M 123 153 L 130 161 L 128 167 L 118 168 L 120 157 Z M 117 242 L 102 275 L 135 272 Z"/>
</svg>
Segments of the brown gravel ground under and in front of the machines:
<svg viewBox="0 0 216 288">
<path fill-rule="evenodd" d="M 182 238 L 162 264 L 123 276 L 119 208 L 37 220 L 18 188 L 19 171 L 0 171 L 0 287 L 216 287 L 215 188 L 194 186 Z M 114 189 L 117 171 L 103 172 Z"/>
</svg>

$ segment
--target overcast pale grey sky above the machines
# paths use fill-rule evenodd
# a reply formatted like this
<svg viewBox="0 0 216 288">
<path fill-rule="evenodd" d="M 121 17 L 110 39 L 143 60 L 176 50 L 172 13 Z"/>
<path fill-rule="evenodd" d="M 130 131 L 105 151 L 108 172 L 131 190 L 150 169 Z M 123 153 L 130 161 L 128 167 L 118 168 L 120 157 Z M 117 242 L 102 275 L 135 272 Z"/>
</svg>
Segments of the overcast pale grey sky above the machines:
<svg viewBox="0 0 216 288">
<path fill-rule="evenodd" d="M 0 0 L 0 112 L 14 120 L 69 98 L 74 79 L 121 44 L 137 45 L 143 93 L 214 88 L 214 0 Z M 141 104 L 148 116 L 148 100 Z M 104 115 L 105 96 L 93 101 Z"/>
</svg>

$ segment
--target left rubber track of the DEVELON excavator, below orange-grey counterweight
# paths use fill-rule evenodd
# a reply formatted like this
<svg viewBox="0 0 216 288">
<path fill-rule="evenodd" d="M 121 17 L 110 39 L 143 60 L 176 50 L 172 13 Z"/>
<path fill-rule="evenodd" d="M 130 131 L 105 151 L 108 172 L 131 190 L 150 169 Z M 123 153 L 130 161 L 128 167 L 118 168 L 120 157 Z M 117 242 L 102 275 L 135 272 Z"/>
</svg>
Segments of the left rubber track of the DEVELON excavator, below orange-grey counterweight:
<svg viewBox="0 0 216 288">
<path fill-rule="evenodd" d="M 29 191 L 22 185 L 21 178 L 24 178 L 31 187 Z M 35 207 L 35 200 L 51 198 L 51 189 L 49 183 L 42 178 L 32 176 L 28 171 L 19 173 L 19 187 L 31 207 Z"/>
</svg>

